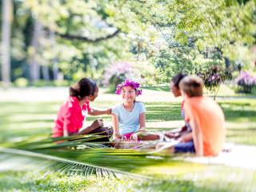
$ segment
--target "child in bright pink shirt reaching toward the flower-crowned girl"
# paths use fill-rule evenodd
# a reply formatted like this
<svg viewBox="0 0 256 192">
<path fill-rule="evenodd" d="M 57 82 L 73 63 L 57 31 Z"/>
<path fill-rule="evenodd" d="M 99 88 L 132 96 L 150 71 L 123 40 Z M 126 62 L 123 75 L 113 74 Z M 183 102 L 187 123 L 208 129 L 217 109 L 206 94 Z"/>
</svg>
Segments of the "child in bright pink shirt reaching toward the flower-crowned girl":
<svg viewBox="0 0 256 192">
<path fill-rule="evenodd" d="M 102 119 L 95 120 L 90 126 L 83 126 L 86 114 L 111 114 L 111 109 L 94 110 L 89 102 L 98 97 L 98 86 L 90 78 L 82 78 L 74 86 L 70 86 L 70 97 L 58 111 L 53 128 L 53 137 L 63 137 L 78 134 L 100 133 L 106 135 L 104 141 L 111 136 L 110 131 L 103 126 Z"/>
</svg>

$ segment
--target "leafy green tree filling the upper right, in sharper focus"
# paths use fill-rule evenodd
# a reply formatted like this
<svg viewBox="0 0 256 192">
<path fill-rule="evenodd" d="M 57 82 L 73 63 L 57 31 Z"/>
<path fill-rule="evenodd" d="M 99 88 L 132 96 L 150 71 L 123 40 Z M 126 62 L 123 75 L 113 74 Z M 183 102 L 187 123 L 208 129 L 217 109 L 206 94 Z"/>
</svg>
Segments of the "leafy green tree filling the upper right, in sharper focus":
<svg viewBox="0 0 256 192">
<path fill-rule="evenodd" d="M 209 66 L 209 61 L 204 63 L 204 59 L 196 63 L 200 55 L 207 58 L 208 50 L 221 53 L 220 58 L 210 58 L 210 63 L 228 61 L 226 67 L 230 68 L 230 62 L 246 56 L 239 53 L 240 47 L 249 50 L 256 42 L 253 0 L 136 1 L 130 2 L 130 6 L 143 22 L 150 22 L 158 29 L 168 43 L 169 49 L 164 47 L 151 59 L 158 68 L 160 82 L 168 81 L 177 71 L 195 73 L 191 67 L 197 65 L 207 66 L 209 68 L 205 70 L 210 70 L 215 64 Z"/>
</svg>

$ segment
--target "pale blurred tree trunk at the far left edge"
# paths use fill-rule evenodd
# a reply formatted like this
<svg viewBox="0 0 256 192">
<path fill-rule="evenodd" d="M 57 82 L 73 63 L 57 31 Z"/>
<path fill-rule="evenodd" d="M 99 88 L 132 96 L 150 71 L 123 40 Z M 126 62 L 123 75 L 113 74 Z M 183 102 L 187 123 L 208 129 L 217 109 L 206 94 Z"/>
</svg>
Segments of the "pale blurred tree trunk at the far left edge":
<svg viewBox="0 0 256 192">
<path fill-rule="evenodd" d="M 10 24 L 13 5 L 11 0 L 2 0 L 2 82 L 10 86 Z"/>
</svg>

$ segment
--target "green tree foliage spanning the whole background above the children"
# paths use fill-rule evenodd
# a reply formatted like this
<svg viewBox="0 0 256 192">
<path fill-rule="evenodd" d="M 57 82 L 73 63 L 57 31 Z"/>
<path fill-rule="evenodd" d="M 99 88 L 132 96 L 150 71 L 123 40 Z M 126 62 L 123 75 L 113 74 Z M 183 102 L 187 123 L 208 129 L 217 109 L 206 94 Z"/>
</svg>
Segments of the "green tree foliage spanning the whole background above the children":
<svg viewBox="0 0 256 192">
<path fill-rule="evenodd" d="M 12 78 L 29 78 L 33 55 L 40 66 L 49 66 L 51 79 L 57 63 L 66 80 L 85 75 L 101 81 L 110 63 L 121 60 L 146 63 L 146 84 L 169 82 L 179 72 L 190 74 L 194 60 L 215 48 L 221 60 L 242 61 L 248 68 L 255 7 L 253 0 L 14 1 Z M 35 22 L 43 28 L 36 53 Z"/>
</svg>

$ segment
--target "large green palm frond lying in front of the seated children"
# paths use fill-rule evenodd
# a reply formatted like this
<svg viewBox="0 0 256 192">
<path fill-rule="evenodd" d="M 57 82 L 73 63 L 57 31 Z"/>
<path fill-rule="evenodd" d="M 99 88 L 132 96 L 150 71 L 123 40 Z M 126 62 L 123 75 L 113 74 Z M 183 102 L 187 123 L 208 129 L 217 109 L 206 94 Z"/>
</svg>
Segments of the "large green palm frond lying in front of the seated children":
<svg viewBox="0 0 256 192">
<path fill-rule="evenodd" d="M 98 138 L 98 135 L 37 137 L 9 143 L 6 145 L 9 149 L 2 149 L 5 149 L 6 153 L 12 151 L 13 154 L 26 155 L 27 158 L 40 158 L 42 166 L 46 167 L 44 170 L 56 174 L 95 174 L 102 177 L 126 174 L 132 178 L 151 178 L 151 175 L 155 174 L 159 178 L 166 178 L 165 172 L 158 170 L 159 166 L 165 166 L 170 172 L 177 164 L 190 166 L 170 155 L 149 154 L 149 148 L 156 142 L 141 142 L 136 149 L 115 149 L 109 147 L 110 142 L 92 142 L 94 138 Z M 153 174 L 150 171 L 142 171 L 153 167 Z"/>
</svg>

